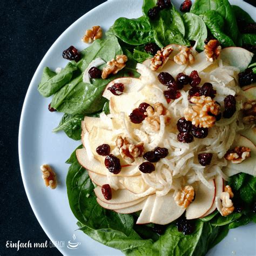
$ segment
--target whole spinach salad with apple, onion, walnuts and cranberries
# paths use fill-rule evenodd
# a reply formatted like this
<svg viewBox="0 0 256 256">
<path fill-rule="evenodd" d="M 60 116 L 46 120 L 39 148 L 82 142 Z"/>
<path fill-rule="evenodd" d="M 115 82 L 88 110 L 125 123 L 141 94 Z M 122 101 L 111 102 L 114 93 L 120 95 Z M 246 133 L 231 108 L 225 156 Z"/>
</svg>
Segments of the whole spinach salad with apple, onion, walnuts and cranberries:
<svg viewBox="0 0 256 256">
<path fill-rule="evenodd" d="M 64 113 L 53 132 L 82 143 L 66 161 L 81 231 L 127 255 L 205 255 L 256 222 L 255 23 L 226 0 L 142 9 L 87 30 L 38 91 Z"/>
</svg>

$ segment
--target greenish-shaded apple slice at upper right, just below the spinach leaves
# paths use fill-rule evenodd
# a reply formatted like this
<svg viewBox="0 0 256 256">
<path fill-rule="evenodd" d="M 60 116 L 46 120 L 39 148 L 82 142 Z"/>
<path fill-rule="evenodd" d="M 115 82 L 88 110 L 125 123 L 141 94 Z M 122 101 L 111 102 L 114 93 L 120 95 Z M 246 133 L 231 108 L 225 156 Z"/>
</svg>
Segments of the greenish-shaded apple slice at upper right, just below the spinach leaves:
<svg viewBox="0 0 256 256">
<path fill-rule="evenodd" d="M 251 63 L 253 53 L 240 47 L 227 47 L 221 50 L 220 59 L 224 64 L 234 66 L 241 71 L 244 71 Z"/>
</svg>

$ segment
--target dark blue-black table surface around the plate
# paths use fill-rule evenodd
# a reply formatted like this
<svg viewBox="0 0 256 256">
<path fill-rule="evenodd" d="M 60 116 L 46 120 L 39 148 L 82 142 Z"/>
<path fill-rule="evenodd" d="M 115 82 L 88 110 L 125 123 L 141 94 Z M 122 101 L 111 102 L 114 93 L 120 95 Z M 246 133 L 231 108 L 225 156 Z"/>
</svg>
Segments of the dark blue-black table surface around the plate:
<svg viewBox="0 0 256 256">
<path fill-rule="evenodd" d="M 0 255 L 61 255 L 56 248 L 21 248 L 17 252 L 16 248 L 5 246 L 8 240 L 49 241 L 32 212 L 22 183 L 18 162 L 19 118 L 30 80 L 46 51 L 69 25 L 103 2 L 0 2 Z"/>
</svg>

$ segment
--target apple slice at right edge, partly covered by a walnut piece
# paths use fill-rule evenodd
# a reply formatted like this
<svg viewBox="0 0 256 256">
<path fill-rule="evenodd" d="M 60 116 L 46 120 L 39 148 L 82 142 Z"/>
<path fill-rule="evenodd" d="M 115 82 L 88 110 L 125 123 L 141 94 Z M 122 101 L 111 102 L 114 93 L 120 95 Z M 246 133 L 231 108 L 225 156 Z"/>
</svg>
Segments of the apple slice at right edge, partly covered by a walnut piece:
<svg viewBox="0 0 256 256">
<path fill-rule="evenodd" d="M 256 147 L 255 147 L 255 145 L 251 142 L 250 139 L 247 139 L 245 136 L 238 135 L 238 138 L 234 140 L 234 143 L 231 146 L 231 149 L 233 149 L 236 146 L 249 147 L 251 149 L 251 157 L 246 158 L 240 164 L 233 164 L 231 161 L 228 161 L 228 164 L 224 169 L 225 174 L 228 177 L 230 177 L 239 172 L 244 172 L 244 173 L 250 174 L 252 176 L 256 176 L 256 165 L 255 165 Z"/>
</svg>

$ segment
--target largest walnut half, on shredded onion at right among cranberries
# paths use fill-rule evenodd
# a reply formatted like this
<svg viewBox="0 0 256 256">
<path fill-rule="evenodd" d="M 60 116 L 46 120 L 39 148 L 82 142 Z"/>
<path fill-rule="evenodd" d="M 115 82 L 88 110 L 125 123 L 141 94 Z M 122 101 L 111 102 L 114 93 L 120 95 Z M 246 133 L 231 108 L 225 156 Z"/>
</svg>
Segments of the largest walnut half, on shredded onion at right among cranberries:
<svg viewBox="0 0 256 256">
<path fill-rule="evenodd" d="M 211 97 L 193 96 L 190 101 L 196 105 L 186 107 L 184 117 L 193 125 L 199 127 L 212 127 L 216 121 L 215 116 L 220 112 L 220 106 Z"/>
</svg>

